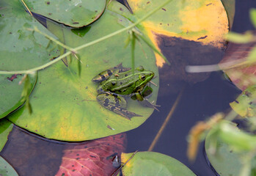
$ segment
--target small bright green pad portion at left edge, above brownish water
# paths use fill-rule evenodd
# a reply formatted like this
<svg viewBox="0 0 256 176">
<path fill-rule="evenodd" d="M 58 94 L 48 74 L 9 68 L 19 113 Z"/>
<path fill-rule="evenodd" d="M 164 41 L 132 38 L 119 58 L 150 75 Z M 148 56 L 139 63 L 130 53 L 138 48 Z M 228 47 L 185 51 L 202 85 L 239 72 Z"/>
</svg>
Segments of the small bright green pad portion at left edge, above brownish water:
<svg viewBox="0 0 256 176">
<path fill-rule="evenodd" d="M 9 133 L 12 131 L 13 124 L 9 120 L 0 120 L 0 152 L 8 140 Z M 1 166 L 1 164 L 0 164 Z"/>
</svg>

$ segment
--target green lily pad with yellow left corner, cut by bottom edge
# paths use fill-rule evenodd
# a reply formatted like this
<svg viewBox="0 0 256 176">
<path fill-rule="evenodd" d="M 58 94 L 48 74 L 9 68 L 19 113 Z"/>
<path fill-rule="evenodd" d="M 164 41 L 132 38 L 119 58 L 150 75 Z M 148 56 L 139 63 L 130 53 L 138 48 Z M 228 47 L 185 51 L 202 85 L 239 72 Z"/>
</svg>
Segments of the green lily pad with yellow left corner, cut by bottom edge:
<svg viewBox="0 0 256 176">
<path fill-rule="evenodd" d="M 121 162 L 128 161 L 133 153 L 122 153 Z M 180 161 L 167 155 L 153 152 L 139 152 L 122 167 L 125 176 L 169 176 L 194 175 L 194 173 Z"/>
</svg>

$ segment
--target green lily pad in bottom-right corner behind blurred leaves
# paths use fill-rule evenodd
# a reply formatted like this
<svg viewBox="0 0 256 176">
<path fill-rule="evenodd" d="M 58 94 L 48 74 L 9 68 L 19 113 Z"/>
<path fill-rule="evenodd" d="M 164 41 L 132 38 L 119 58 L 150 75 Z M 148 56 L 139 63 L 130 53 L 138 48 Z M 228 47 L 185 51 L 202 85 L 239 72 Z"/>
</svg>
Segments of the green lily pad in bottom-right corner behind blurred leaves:
<svg viewBox="0 0 256 176">
<path fill-rule="evenodd" d="M 237 129 L 237 133 L 241 133 L 239 132 L 238 128 Z M 239 152 L 236 153 L 235 151 L 238 150 L 238 147 L 241 148 L 241 146 L 243 145 L 243 143 L 246 143 L 246 141 L 244 141 L 244 139 L 242 139 L 241 141 L 239 141 L 239 139 L 241 139 L 239 137 L 239 139 L 234 139 L 234 146 L 230 147 L 230 145 L 228 145 L 226 142 L 223 142 L 222 139 L 220 139 L 219 137 L 216 138 L 216 135 L 212 135 L 214 129 L 211 130 L 208 133 L 208 136 L 205 139 L 205 152 L 208 156 L 208 160 L 210 161 L 211 165 L 213 166 L 213 168 L 216 170 L 216 172 L 219 173 L 219 175 L 221 176 L 227 176 L 227 175 L 232 175 L 232 176 L 240 176 L 240 172 L 241 172 L 241 168 L 242 168 L 242 156 L 245 155 L 245 152 Z M 234 134 L 233 136 L 235 136 L 236 134 Z M 241 135 L 239 135 L 241 136 Z M 228 136 L 227 136 L 228 138 Z M 252 137 L 251 137 L 252 138 Z M 215 141 L 217 139 L 217 153 L 213 154 L 213 146 L 211 146 L 211 142 Z M 255 141 L 255 139 L 254 139 Z M 239 146 L 239 144 L 237 144 L 238 142 L 241 142 L 241 146 Z M 252 142 L 252 141 L 247 141 L 247 142 Z M 231 143 L 230 143 L 231 144 Z M 235 146 L 237 145 L 237 146 Z M 252 145 L 255 146 L 255 145 Z M 244 146 L 242 146 L 244 148 Z M 248 153 L 247 153 L 248 154 Z M 252 176 L 255 175 L 255 171 L 256 170 L 256 158 L 252 158 Z"/>
</svg>

